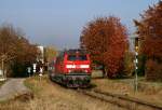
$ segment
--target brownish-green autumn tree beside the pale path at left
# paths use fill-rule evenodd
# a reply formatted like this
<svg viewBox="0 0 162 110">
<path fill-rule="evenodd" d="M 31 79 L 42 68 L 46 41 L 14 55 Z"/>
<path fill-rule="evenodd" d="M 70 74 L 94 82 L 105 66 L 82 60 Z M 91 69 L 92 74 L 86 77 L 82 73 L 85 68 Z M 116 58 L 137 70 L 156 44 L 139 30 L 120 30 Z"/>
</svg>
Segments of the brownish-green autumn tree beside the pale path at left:
<svg viewBox="0 0 162 110">
<path fill-rule="evenodd" d="M 0 60 L 4 61 L 5 69 L 12 70 L 11 75 L 25 75 L 26 66 L 31 65 L 36 57 L 36 45 L 30 44 L 22 32 L 11 25 L 0 27 Z"/>
</svg>

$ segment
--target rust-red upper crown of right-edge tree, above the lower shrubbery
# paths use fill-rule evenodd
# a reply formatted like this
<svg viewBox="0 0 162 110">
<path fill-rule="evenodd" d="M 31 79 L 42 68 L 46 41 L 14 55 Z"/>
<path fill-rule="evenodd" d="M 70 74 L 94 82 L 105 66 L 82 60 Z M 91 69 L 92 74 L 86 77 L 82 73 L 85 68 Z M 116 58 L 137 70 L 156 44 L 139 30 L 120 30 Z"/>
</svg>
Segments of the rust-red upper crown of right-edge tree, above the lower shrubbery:
<svg viewBox="0 0 162 110">
<path fill-rule="evenodd" d="M 143 39 L 143 53 L 149 58 L 162 58 L 162 1 L 149 6 L 141 18 L 135 25 L 139 38 Z"/>
</svg>

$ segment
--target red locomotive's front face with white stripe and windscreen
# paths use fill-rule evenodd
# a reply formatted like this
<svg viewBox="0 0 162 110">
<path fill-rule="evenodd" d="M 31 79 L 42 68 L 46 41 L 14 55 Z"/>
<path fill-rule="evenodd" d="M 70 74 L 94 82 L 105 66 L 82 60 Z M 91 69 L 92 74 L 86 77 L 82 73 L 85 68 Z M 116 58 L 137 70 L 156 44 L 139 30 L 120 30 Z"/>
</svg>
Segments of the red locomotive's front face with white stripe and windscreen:
<svg viewBox="0 0 162 110">
<path fill-rule="evenodd" d="M 66 84 L 68 87 L 87 87 L 91 82 L 91 61 L 87 53 L 67 52 L 65 55 Z"/>
</svg>

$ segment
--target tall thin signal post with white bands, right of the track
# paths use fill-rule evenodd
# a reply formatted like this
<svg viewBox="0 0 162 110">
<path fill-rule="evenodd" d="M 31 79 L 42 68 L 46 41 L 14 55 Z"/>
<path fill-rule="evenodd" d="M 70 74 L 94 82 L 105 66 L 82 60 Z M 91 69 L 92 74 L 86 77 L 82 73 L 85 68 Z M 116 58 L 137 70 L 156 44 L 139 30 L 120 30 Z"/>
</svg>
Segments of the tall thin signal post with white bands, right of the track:
<svg viewBox="0 0 162 110">
<path fill-rule="evenodd" d="M 139 41 L 139 38 L 136 37 L 135 38 L 135 60 L 134 60 L 134 64 L 135 64 L 135 80 L 134 80 L 134 91 L 137 92 L 138 91 L 138 41 Z"/>
</svg>

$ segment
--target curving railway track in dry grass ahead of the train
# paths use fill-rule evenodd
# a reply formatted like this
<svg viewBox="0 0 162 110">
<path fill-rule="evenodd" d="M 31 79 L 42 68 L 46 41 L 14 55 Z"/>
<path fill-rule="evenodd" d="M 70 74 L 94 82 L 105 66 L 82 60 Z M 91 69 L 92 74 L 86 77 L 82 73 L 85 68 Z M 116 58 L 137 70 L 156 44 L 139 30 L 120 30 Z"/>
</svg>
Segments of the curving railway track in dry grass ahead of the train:
<svg viewBox="0 0 162 110">
<path fill-rule="evenodd" d="M 129 97 L 129 96 L 123 96 L 123 95 L 118 95 L 112 93 L 105 93 L 98 90 L 93 90 L 93 91 L 78 90 L 78 92 L 87 95 L 90 97 L 117 105 L 127 110 L 162 110 L 161 105 L 146 102 L 134 97 Z"/>
</svg>

